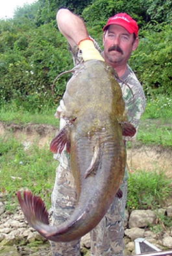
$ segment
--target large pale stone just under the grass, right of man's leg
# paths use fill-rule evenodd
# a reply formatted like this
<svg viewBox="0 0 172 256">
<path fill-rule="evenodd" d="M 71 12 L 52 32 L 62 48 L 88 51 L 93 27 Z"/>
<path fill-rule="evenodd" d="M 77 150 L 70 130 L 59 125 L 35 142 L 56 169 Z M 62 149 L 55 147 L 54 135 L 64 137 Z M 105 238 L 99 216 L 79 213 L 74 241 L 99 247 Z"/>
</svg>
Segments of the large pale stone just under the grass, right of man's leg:
<svg viewBox="0 0 172 256">
<path fill-rule="evenodd" d="M 133 210 L 130 214 L 129 227 L 147 227 L 156 221 L 152 210 Z"/>
</svg>

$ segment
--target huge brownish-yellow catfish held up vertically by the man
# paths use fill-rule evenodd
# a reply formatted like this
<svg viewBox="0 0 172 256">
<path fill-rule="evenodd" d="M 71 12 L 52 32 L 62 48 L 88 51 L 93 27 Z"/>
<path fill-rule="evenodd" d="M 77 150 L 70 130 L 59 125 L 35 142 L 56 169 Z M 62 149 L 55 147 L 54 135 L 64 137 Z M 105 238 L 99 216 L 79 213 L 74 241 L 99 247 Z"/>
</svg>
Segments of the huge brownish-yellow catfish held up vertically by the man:
<svg viewBox="0 0 172 256">
<path fill-rule="evenodd" d="M 69 220 L 50 226 L 42 200 L 18 192 L 18 201 L 29 224 L 42 236 L 56 242 L 76 240 L 103 218 L 115 196 L 121 196 L 126 149 L 123 135 L 135 128 L 126 122 L 121 88 L 114 70 L 103 61 L 86 61 L 75 68 L 69 80 L 58 117 L 66 126 L 51 141 L 51 152 L 66 145 L 77 188 L 77 205 Z"/>
</svg>

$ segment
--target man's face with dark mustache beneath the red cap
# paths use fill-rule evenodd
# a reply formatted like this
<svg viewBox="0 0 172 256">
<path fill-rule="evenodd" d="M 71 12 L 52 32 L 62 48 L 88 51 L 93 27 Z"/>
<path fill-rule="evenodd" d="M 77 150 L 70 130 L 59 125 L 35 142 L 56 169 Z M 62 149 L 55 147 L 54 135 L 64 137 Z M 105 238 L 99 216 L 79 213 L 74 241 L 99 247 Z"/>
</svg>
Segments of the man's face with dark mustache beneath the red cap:
<svg viewBox="0 0 172 256">
<path fill-rule="evenodd" d="M 116 67 L 127 64 L 132 51 L 138 46 L 138 38 L 120 25 L 110 25 L 103 35 L 104 59 Z"/>
</svg>

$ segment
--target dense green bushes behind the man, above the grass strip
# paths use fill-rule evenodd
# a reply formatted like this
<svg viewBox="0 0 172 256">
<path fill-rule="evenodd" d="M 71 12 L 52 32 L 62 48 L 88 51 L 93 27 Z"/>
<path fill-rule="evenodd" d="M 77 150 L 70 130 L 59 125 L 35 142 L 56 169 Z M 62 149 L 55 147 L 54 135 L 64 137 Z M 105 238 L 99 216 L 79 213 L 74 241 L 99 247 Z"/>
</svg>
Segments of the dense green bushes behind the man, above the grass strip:
<svg viewBox="0 0 172 256">
<path fill-rule="evenodd" d="M 73 65 L 66 39 L 56 26 L 56 11 L 66 7 L 82 16 L 90 35 L 101 45 L 102 27 L 110 16 L 127 12 L 138 21 L 140 44 L 130 65 L 147 97 L 172 92 L 171 0 L 38 0 L 18 7 L 14 18 L 0 20 L 0 106 L 14 101 L 34 111 L 55 106 L 69 75 L 62 76 L 51 95 L 56 75 Z"/>
</svg>

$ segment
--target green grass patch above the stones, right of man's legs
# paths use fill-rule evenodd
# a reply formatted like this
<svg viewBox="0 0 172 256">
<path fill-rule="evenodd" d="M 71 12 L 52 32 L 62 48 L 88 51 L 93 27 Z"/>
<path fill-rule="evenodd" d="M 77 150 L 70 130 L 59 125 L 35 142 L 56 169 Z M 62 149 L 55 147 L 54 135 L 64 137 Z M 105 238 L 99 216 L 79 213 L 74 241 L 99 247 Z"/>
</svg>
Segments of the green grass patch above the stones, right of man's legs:
<svg viewBox="0 0 172 256">
<path fill-rule="evenodd" d="M 169 177 L 160 171 L 134 171 L 129 173 L 127 208 L 155 209 L 162 207 L 171 192 Z"/>
</svg>

